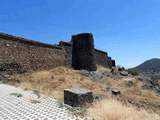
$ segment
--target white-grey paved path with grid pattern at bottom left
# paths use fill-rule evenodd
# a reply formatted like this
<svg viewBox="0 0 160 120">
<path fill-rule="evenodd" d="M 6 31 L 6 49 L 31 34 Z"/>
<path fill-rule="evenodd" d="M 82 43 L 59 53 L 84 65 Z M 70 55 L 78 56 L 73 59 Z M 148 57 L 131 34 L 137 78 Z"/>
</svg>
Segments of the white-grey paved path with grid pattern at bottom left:
<svg viewBox="0 0 160 120">
<path fill-rule="evenodd" d="M 43 96 L 37 100 L 37 96 L 32 91 L 0 84 L 0 120 L 82 119 L 68 114 L 65 108 L 60 107 L 53 98 Z"/>
</svg>

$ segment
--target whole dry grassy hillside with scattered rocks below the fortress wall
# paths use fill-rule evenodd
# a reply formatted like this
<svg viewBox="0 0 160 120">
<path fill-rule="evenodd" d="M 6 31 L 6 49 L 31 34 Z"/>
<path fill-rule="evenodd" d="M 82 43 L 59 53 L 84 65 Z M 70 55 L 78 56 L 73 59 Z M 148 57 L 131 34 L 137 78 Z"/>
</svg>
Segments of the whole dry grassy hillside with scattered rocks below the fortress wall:
<svg viewBox="0 0 160 120">
<path fill-rule="evenodd" d="M 141 76 L 124 73 L 124 71 L 111 71 L 103 67 L 98 67 L 95 72 L 57 67 L 51 70 L 13 75 L 10 76 L 7 83 L 25 90 L 38 91 L 54 97 L 60 102 L 64 100 L 64 89 L 72 87 L 89 89 L 94 94 L 95 102 L 85 108 L 85 113 L 80 112 L 78 114 L 89 112 L 89 115 L 96 120 L 118 120 L 118 118 L 130 120 L 130 117 L 132 117 L 132 120 L 159 120 L 152 117 L 151 113 L 154 112 L 155 116 L 160 115 L 160 97 L 155 91 L 147 89 L 150 84 L 145 84 L 145 81 L 148 80 Z M 120 91 L 120 94 L 114 95 L 113 92 L 117 90 Z M 103 105 L 103 111 L 97 112 L 101 111 L 101 104 Z M 124 108 L 121 104 L 131 106 L 131 109 Z M 133 109 L 136 113 L 133 112 Z M 141 110 L 145 113 L 142 113 Z M 133 116 L 132 113 L 139 114 L 139 116 Z M 143 116 L 146 114 L 147 116 Z"/>
</svg>

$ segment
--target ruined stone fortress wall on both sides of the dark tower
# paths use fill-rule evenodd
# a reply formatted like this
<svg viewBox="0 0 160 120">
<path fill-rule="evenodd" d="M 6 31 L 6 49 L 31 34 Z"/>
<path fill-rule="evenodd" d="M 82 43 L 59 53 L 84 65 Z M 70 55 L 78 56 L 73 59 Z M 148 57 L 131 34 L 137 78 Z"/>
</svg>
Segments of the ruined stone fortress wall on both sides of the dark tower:
<svg viewBox="0 0 160 120">
<path fill-rule="evenodd" d="M 95 49 L 96 64 L 112 67 L 106 52 Z M 0 33 L 0 72 L 23 73 L 31 70 L 71 66 L 72 43 L 44 44 Z"/>
</svg>

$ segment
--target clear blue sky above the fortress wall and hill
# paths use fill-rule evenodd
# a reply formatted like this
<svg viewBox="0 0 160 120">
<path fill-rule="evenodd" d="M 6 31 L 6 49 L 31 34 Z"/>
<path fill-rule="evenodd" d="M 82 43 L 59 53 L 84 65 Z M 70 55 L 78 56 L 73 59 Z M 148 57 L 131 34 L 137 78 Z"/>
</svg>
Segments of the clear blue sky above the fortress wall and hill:
<svg viewBox="0 0 160 120">
<path fill-rule="evenodd" d="M 160 0 L 0 0 L 0 31 L 57 43 L 91 32 L 95 46 L 133 67 L 160 57 Z"/>
</svg>

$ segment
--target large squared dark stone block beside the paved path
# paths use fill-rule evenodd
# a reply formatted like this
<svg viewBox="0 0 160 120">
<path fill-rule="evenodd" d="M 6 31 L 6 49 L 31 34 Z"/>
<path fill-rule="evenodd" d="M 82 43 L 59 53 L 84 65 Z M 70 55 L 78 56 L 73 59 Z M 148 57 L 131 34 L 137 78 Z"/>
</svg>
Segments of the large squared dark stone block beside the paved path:
<svg viewBox="0 0 160 120">
<path fill-rule="evenodd" d="M 72 107 L 80 107 L 86 103 L 92 103 L 93 99 L 92 92 L 87 89 L 71 88 L 64 90 L 64 104 Z"/>
</svg>

